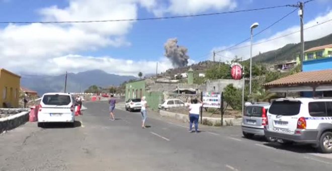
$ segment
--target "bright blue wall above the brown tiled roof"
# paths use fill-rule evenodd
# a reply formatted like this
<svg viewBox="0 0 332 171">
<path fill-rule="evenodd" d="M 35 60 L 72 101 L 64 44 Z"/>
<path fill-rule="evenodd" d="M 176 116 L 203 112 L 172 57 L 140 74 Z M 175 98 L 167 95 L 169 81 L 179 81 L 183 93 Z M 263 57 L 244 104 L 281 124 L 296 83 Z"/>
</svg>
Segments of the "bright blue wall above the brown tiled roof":
<svg viewBox="0 0 332 171">
<path fill-rule="evenodd" d="M 332 57 L 307 60 L 303 62 L 303 72 L 324 69 L 332 69 Z"/>
</svg>

